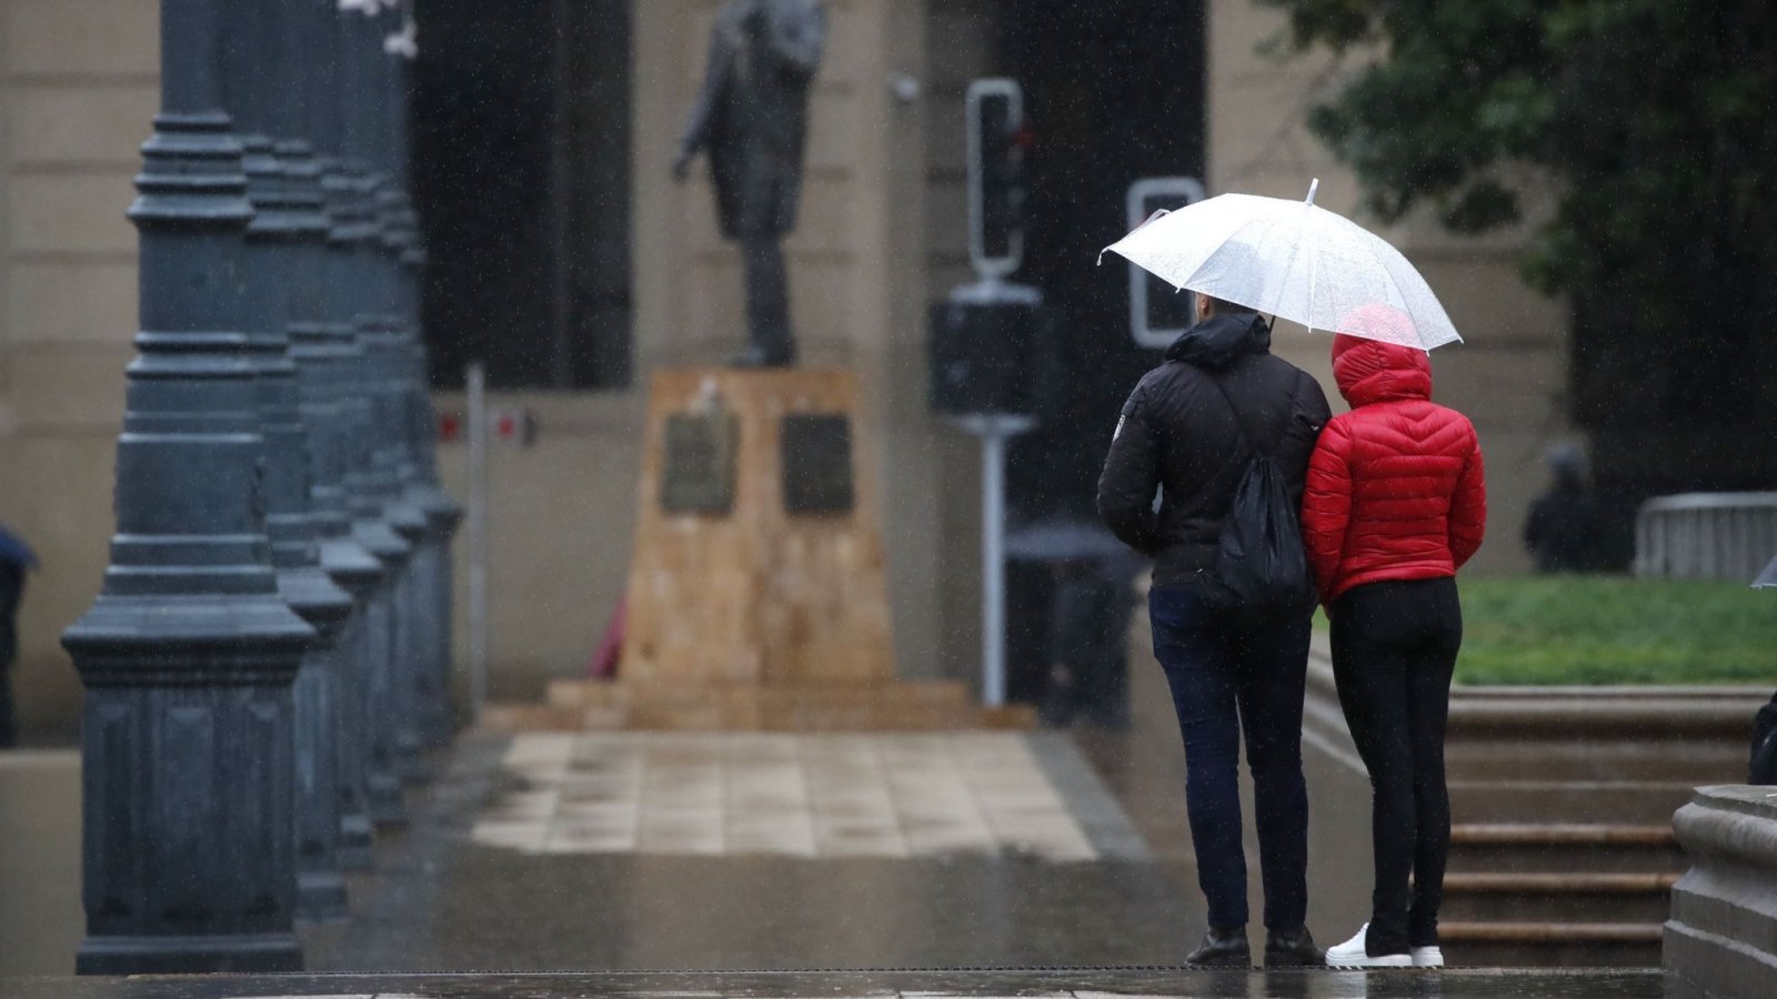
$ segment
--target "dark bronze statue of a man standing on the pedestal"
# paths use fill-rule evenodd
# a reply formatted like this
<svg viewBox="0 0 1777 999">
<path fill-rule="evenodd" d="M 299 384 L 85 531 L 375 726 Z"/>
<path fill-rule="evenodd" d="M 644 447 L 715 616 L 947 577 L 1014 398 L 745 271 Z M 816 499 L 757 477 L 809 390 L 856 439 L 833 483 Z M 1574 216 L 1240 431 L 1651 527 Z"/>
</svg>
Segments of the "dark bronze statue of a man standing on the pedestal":
<svg viewBox="0 0 1777 999">
<path fill-rule="evenodd" d="M 746 331 L 739 366 L 796 361 L 789 284 L 778 240 L 796 228 L 809 84 L 821 66 L 826 14 L 817 0 L 729 0 L 716 12 L 709 69 L 691 108 L 673 176 L 709 151 L 721 235 L 746 263 Z"/>
</svg>

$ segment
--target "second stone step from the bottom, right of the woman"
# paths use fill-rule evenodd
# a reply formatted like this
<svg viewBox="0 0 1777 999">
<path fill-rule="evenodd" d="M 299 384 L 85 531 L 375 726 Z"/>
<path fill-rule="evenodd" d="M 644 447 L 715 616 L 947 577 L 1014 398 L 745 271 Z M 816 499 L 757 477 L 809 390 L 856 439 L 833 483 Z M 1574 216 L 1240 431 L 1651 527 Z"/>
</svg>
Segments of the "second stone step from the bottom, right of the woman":
<svg viewBox="0 0 1777 999">
<path fill-rule="evenodd" d="M 1457 923 L 1660 926 L 1672 873 L 1455 873 L 1439 915 Z"/>
</svg>

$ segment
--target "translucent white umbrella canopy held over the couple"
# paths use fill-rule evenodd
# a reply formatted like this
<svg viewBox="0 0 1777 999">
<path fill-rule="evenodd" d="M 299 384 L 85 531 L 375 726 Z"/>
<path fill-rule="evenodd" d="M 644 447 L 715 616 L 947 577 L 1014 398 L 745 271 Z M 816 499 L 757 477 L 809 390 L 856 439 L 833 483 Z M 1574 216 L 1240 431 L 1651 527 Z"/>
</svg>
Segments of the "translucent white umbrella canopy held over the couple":
<svg viewBox="0 0 1777 999">
<path fill-rule="evenodd" d="M 1462 340 L 1420 272 L 1336 212 L 1308 201 L 1221 194 L 1155 213 L 1105 247 L 1178 290 L 1310 329 L 1430 350 Z M 1104 252 L 1098 254 L 1100 261 Z"/>
</svg>

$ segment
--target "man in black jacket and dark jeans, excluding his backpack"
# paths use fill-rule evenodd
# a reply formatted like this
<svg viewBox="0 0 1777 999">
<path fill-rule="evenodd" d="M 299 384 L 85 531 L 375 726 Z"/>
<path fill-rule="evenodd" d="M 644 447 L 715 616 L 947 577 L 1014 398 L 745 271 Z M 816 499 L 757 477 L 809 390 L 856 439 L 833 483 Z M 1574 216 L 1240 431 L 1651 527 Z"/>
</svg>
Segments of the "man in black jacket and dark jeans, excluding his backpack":
<svg viewBox="0 0 1777 999">
<path fill-rule="evenodd" d="M 1262 316 L 1199 293 L 1196 318 L 1123 405 L 1098 478 L 1098 515 L 1153 558 L 1153 654 L 1185 739 L 1185 805 L 1210 923 L 1185 963 L 1251 963 L 1237 770 L 1244 727 L 1265 882 L 1265 967 L 1319 965 L 1304 924 L 1310 615 L 1239 624 L 1217 615 L 1199 587 L 1253 448 L 1271 450 L 1299 508 L 1329 409 L 1313 377 L 1271 354 Z"/>
</svg>

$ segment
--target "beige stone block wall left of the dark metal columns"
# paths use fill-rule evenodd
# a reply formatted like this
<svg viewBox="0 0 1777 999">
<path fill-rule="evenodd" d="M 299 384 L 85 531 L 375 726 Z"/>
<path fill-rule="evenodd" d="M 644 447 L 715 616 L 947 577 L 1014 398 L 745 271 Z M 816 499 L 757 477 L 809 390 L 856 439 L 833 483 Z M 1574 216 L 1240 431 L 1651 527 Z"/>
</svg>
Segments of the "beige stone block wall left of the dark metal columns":
<svg viewBox="0 0 1777 999">
<path fill-rule="evenodd" d="M 43 556 L 14 686 L 69 731 L 62 627 L 92 601 L 135 316 L 124 220 L 158 89 L 155 0 L 0 0 L 0 521 Z"/>
</svg>

